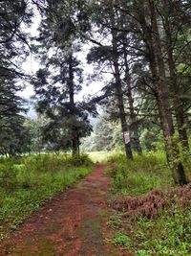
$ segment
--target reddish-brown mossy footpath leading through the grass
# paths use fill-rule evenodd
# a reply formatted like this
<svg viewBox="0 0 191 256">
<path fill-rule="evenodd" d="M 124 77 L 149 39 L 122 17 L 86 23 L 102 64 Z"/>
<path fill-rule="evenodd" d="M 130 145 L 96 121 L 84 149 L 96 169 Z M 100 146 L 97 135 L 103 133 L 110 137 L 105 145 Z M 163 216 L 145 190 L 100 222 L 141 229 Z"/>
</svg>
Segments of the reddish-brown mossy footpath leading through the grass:
<svg viewBox="0 0 191 256">
<path fill-rule="evenodd" d="M 110 177 L 98 165 L 91 175 L 35 212 L 0 245 L 0 255 L 122 256 L 110 236 L 107 207 Z"/>
</svg>

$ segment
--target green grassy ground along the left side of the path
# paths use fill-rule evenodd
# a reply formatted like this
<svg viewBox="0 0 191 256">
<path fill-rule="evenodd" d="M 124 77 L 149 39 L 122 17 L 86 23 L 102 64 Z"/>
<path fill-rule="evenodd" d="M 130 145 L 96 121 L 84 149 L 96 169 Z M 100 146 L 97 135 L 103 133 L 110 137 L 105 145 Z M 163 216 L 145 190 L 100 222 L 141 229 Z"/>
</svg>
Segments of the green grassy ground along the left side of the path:
<svg viewBox="0 0 191 256">
<path fill-rule="evenodd" d="M 45 201 L 87 175 L 93 162 L 86 156 L 40 154 L 0 159 L 0 239 Z"/>
</svg>

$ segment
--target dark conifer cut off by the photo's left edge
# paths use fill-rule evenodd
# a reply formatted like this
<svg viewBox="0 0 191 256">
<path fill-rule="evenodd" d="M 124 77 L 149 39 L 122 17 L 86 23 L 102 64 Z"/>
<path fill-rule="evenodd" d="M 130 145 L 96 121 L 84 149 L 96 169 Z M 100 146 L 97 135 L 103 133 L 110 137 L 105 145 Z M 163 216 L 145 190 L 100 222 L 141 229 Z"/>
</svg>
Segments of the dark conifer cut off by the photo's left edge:
<svg viewBox="0 0 191 256">
<path fill-rule="evenodd" d="M 21 62 L 27 56 L 28 36 L 23 28 L 31 23 L 32 10 L 25 0 L 0 1 L 0 10 L 0 154 L 15 155 L 25 150 L 28 138 L 21 114 L 26 109 L 17 81 L 22 78 Z"/>
</svg>

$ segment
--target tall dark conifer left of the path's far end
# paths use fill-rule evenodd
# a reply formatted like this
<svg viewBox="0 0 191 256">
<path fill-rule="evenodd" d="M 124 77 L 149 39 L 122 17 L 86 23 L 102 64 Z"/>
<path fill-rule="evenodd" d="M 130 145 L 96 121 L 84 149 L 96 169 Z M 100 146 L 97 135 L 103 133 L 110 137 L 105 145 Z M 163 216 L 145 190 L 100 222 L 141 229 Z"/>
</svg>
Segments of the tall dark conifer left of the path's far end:
<svg viewBox="0 0 191 256">
<path fill-rule="evenodd" d="M 94 107 L 75 101 L 83 82 L 81 63 L 76 58 L 80 50 L 76 3 L 47 4 L 38 38 L 38 53 L 44 67 L 34 81 L 36 96 L 40 98 L 37 110 L 50 119 L 45 138 L 54 144 L 54 150 L 72 149 L 75 155 L 79 154 L 80 138 L 89 135 L 92 129 L 88 113 L 96 113 Z M 56 143 L 54 134 L 59 138 Z"/>
</svg>

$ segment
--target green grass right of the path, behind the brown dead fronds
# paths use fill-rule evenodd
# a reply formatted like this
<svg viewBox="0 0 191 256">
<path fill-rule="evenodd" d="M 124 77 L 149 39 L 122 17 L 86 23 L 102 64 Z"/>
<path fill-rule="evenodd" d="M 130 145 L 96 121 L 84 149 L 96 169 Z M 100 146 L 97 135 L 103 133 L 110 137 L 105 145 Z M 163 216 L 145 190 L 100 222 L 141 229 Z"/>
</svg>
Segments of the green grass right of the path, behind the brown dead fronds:
<svg viewBox="0 0 191 256">
<path fill-rule="evenodd" d="M 109 161 L 117 164 L 117 172 L 113 175 L 113 188 L 118 194 L 138 196 L 156 187 L 171 184 L 171 174 L 162 152 L 136 155 L 135 161 L 127 161 L 124 154 L 117 153 Z"/>
</svg>

